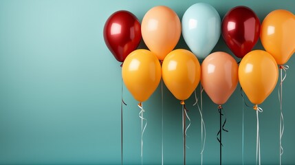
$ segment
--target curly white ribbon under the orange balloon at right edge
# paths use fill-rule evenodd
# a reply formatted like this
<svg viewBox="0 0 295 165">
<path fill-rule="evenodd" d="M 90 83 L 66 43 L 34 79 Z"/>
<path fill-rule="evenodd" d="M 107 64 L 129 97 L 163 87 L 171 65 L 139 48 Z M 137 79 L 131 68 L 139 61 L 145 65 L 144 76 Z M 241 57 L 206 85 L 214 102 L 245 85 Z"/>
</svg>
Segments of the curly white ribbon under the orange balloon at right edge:
<svg viewBox="0 0 295 165">
<path fill-rule="evenodd" d="M 280 86 L 278 88 L 278 101 L 280 102 L 280 108 L 281 108 L 281 115 L 280 115 L 280 165 L 282 162 L 282 155 L 283 155 L 283 146 L 282 146 L 282 137 L 283 137 L 283 133 L 284 133 L 284 116 L 283 116 L 283 81 L 285 80 L 286 76 L 287 76 L 287 69 L 289 69 L 288 65 L 281 65 L 280 66 L 281 69 L 281 83 Z M 283 77 L 283 71 L 285 73 L 284 77 Z"/>
</svg>

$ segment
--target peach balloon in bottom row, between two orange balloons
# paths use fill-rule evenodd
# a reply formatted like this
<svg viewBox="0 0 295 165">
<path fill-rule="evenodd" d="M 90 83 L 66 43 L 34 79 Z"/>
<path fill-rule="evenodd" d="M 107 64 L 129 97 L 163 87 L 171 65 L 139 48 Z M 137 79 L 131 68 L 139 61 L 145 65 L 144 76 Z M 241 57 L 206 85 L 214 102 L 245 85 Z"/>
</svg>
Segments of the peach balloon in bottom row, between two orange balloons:
<svg viewBox="0 0 295 165">
<path fill-rule="evenodd" d="M 201 85 L 215 104 L 224 104 L 239 82 L 238 65 L 230 54 L 215 52 L 201 64 Z"/>
</svg>

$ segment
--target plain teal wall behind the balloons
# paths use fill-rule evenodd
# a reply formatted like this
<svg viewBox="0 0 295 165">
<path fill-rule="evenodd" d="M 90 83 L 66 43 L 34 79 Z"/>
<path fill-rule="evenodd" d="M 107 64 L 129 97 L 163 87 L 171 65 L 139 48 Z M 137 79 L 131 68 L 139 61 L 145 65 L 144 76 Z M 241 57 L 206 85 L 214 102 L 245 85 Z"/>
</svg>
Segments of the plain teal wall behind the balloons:
<svg viewBox="0 0 295 165">
<path fill-rule="evenodd" d="M 103 40 L 107 18 L 129 10 L 140 21 L 155 5 L 167 5 L 180 19 L 201 1 L 0 1 L 0 164 L 120 164 L 121 68 Z M 263 18 L 272 10 L 295 13 L 294 1 L 206 1 L 224 14 L 247 5 Z M 140 47 L 144 48 L 142 43 Z M 181 39 L 177 48 L 188 49 Z M 263 49 L 261 43 L 255 49 Z M 219 39 L 212 52 L 232 54 Z M 295 164 L 295 58 L 283 84 L 283 164 Z M 197 88 L 199 91 L 199 87 Z M 277 87 L 261 104 L 261 164 L 279 161 Z M 124 164 L 140 164 L 140 109 L 126 88 Z M 199 96 L 199 92 L 198 92 Z M 200 164 L 201 127 L 195 98 L 190 110 L 187 163 Z M 223 163 L 241 164 L 242 98 L 239 86 L 223 105 Z M 144 164 L 161 163 L 161 89 L 144 102 Z M 164 164 L 182 164 L 182 107 L 164 87 Z M 219 164 L 217 105 L 204 94 L 207 129 L 204 164 Z M 245 109 L 245 164 L 255 164 L 256 113 Z"/>
</svg>

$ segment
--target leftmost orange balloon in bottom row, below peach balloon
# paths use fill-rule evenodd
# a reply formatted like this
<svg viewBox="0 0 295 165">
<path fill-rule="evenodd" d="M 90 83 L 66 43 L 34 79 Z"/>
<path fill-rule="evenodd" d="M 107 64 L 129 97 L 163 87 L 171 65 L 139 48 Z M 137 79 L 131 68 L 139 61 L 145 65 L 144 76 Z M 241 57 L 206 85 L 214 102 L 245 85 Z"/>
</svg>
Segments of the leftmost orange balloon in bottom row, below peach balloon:
<svg viewBox="0 0 295 165">
<path fill-rule="evenodd" d="M 135 50 L 123 63 L 122 78 L 135 100 L 144 102 L 160 83 L 160 62 L 149 50 Z"/>
</svg>

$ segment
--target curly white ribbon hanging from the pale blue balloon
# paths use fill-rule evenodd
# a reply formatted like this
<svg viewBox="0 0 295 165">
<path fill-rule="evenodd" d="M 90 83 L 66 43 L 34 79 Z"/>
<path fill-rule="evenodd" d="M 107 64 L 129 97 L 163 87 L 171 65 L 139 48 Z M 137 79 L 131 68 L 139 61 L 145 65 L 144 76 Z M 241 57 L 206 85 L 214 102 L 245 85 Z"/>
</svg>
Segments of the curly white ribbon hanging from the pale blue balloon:
<svg viewBox="0 0 295 165">
<path fill-rule="evenodd" d="M 204 91 L 204 89 L 201 88 L 201 95 L 202 92 Z M 206 143 L 206 126 L 205 126 L 205 122 L 203 120 L 203 113 L 202 113 L 202 96 L 201 98 L 201 108 L 199 107 L 199 104 L 197 104 L 199 102 L 199 98 L 197 98 L 197 94 L 195 91 L 195 104 L 197 104 L 197 108 L 199 109 L 199 115 L 201 116 L 201 164 L 203 164 L 203 152 L 204 152 L 204 148 L 205 148 L 205 143 Z M 193 104 L 193 106 L 195 106 L 195 104 Z M 204 133 L 203 133 L 203 129 L 204 129 Z"/>
</svg>

